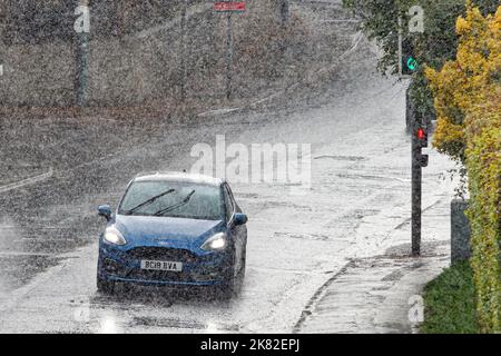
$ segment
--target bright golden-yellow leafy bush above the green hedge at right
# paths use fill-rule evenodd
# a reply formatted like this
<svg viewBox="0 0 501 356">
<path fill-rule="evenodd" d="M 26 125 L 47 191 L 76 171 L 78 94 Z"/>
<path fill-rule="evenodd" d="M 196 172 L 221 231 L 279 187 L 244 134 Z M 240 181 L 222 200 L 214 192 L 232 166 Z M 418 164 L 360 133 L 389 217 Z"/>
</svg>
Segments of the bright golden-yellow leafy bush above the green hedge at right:
<svg viewBox="0 0 501 356">
<path fill-rule="evenodd" d="M 458 145 L 466 136 L 464 118 L 478 116 L 482 107 L 479 102 L 487 100 L 490 93 L 499 91 L 501 70 L 501 7 L 494 17 L 482 17 L 478 8 L 466 10 L 464 18 L 456 21 L 456 33 L 460 43 L 455 61 L 449 61 L 441 71 L 425 69 L 425 76 L 435 97 L 435 109 L 439 117 L 438 134 L 434 146 L 442 152 L 453 157 L 462 151 Z"/>
</svg>

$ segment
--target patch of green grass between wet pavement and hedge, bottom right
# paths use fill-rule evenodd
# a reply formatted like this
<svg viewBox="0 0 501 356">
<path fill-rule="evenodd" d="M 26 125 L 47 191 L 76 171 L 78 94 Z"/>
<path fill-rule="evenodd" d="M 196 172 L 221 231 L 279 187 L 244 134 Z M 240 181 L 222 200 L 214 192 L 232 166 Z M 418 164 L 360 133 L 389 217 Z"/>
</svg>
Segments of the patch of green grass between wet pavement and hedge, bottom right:
<svg viewBox="0 0 501 356">
<path fill-rule="evenodd" d="M 468 261 L 454 264 L 424 288 L 423 334 L 480 333 L 473 271 Z"/>
</svg>

